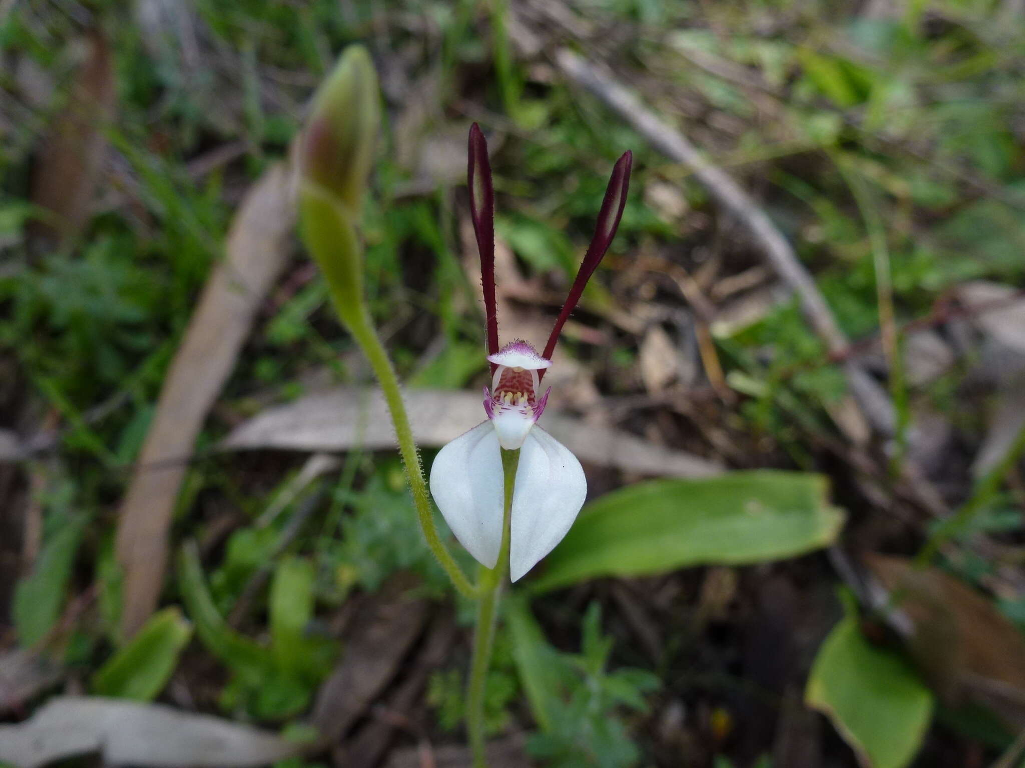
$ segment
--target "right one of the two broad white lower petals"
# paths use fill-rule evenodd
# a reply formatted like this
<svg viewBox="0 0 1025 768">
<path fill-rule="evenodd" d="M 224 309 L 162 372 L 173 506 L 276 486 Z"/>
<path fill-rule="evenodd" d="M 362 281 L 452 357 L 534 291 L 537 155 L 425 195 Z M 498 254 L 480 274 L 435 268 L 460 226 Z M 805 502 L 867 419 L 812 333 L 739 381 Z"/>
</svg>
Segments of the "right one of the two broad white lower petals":
<svg viewBox="0 0 1025 768">
<path fill-rule="evenodd" d="M 509 578 L 516 582 L 562 541 L 587 496 L 569 449 L 535 426 L 520 449 L 512 489 Z"/>
</svg>

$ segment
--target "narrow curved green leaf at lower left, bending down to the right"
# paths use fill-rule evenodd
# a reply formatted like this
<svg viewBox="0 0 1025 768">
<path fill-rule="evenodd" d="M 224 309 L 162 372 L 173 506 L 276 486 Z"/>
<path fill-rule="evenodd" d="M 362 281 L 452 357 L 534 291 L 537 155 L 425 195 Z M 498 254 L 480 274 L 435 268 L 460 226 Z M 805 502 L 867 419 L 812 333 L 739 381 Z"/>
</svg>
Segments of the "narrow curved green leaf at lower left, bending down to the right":
<svg viewBox="0 0 1025 768">
<path fill-rule="evenodd" d="M 196 634 L 207 650 L 253 683 L 273 673 L 271 651 L 237 633 L 217 612 L 203 579 L 195 542 L 184 545 L 178 555 L 178 589 L 196 624 Z"/>
</svg>

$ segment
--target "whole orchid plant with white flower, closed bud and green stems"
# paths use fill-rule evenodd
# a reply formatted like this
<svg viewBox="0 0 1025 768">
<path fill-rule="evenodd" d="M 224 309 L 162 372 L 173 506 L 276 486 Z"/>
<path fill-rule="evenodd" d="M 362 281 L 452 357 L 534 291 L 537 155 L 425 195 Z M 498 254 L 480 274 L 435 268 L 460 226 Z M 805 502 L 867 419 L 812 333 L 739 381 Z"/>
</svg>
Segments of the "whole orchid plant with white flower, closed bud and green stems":
<svg viewBox="0 0 1025 768">
<path fill-rule="evenodd" d="M 380 124 L 377 76 L 360 46 L 345 50 L 315 99 L 299 151 L 299 227 L 324 273 L 331 301 L 362 348 L 380 383 L 395 423 L 399 451 L 420 527 L 452 584 L 478 600 L 474 659 L 467 685 L 466 728 L 474 765 L 484 766 L 484 687 L 491 658 L 498 602 L 507 579 L 517 581 L 566 535 L 586 496 L 576 458 L 535 422 L 548 392 L 541 379 L 563 325 L 615 237 L 626 205 L 632 156 L 616 163 L 598 225 L 580 271 L 542 353 L 524 341 L 498 346 L 494 272 L 494 191 L 484 134 L 469 134 L 468 185 L 474 229 L 481 252 L 487 357 L 487 419 L 442 449 L 430 486 L 456 539 L 481 563 L 473 586 L 442 544 L 435 526 L 420 457 L 413 441 L 392 360 L 377 336 L 364 295 L 360 210 L 373 165 Z"/>
</svg>

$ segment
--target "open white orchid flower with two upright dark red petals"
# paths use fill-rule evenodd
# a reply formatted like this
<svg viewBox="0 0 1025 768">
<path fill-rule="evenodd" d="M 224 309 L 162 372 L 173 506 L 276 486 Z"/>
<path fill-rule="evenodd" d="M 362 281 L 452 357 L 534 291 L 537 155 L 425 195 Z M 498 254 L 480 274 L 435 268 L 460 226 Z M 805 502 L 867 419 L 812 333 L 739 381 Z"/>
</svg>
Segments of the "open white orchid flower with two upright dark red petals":
<svg viewBox="0 0 1025 768">
<path fill-rule="evenodd" d="M 475 123 L 469 131 L 469 201 L 481 253 L 491 387 L 484 388 L 487 419 L 445 445 L 430 468 L 430 493 L 459 543 L 494 568 L 502 542 L 504 475 L 500 449 L 519 451 L 512 486 L 509 578 L 516 582 L 569 531 L 587 496 L 580 462 L 535 426 L 550 387 L 540 393 L 563 325 L 580 300 L 615 237 L 626 204 L 632 155 L 625 153 L 609 180 L 598 226 L 570 294 L 541 354 L 526 341 L 499 349 L 495 305 L 494 191 L 488 148 Z"/>
</svg>

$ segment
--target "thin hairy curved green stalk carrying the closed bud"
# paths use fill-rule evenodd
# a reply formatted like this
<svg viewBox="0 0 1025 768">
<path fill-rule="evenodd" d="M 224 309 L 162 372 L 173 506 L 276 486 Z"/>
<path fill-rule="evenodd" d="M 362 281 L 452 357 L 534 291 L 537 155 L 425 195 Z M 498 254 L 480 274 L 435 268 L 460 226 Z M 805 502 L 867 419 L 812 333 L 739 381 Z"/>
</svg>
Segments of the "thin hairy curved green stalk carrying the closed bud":
<svg viewBox="0 0 1025 768">
<path fill-rule="evenodd" d="M 356 322 L 353 322 L 353 321 Z M 416 514 L 420 520 L 420 528 L 423 537 L 427 540 L 427 546 L 438 558 L 438 562 L 445 568 L 449 579 L 455 586 L 459 594 L 464 597 L 475 598 L 478 596 L 478 589 L 469 583 L 462 572 L 458 563 L 442 544 L 441 537 L 438 536 L 438 527 L 435 525 L 434 512 L 430 509 L 430 497 L 427 494 L 427 483 L 423 479 L 423 466 L 420 463 L 420 454 L 416 450 L 416 442 L 413 440 L 413 430 L 409 426 L 409 417 L 406 415 L 406 406 L 402 400 L 402 392 L 399 389 L 399 377 L 392 367 L 392 360 L 381 344 L 377 332 L 367 312 L 361 311 L 359 318 L 350 318 L 346 323 L 353 338 L 363 349 L 363 353 L 370 361 L 370 368 L 380 384 L 384 393 L 384 401 L 392 413 L 392 421 L 395 424 L 395 434 L 399 440 L 399 453 L 406 469 L 406 479 L 409 487 L 413 492 L 413 504 L 416 507 Z"/>
</svg>

